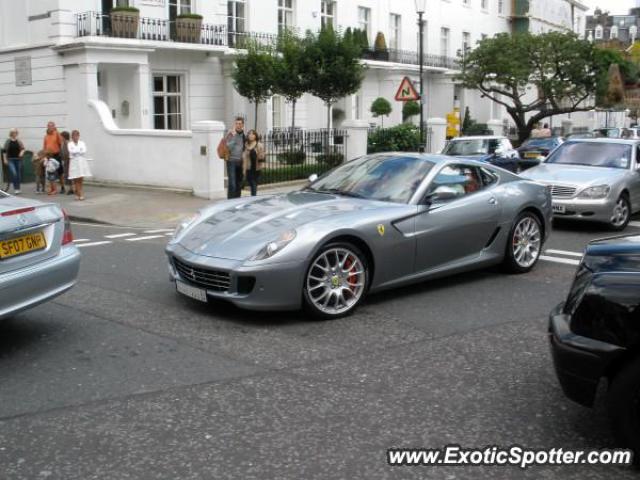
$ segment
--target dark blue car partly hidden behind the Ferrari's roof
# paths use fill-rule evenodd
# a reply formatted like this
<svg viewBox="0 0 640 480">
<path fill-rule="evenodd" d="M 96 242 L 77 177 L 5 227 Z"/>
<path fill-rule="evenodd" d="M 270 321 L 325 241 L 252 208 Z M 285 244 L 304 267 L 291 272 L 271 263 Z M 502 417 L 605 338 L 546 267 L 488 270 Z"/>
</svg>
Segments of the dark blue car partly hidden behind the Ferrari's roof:
<svg viewBox="0 0 640 480">
<path fill-rule="evenodd" d="M 488 162 L 511 172 L 518 169 L 518 152 L 506 137 L 487 135 L 453 138 L 443 155 Z"/>
</svg>

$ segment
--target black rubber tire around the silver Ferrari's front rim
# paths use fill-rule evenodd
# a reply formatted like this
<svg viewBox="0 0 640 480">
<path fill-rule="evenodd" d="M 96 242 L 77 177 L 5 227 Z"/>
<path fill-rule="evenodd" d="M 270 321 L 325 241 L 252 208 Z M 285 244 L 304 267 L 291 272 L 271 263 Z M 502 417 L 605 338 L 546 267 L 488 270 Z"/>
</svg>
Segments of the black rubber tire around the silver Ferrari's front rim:
<svg viewBox="0 0 640 480">
<path fill-rule="evenodd" d="M 320 288 L 324 288 L 325 290 L 331 290 L 331 288 L 329 288 L 329 286 L 326 287 L 322 287 L 320 281 L 316 281 L 316 280 L 310 280 L 310 275 L 314 274 L 314 276 L 317 276 L 318 274 L 320 274 L 320 271 L 316 269 L 315 265 L 316 262 L 320 261 L 320 259 L 325 255 L 325 254 L 331 254 L 331 252 L 334 252 L 336 250 L 339 251 L 348 251 L 350 252 L 352 255 L 354 255 L 357 260 L 360 262 L 360 264 L 362 265 L 362 274 L 360 276 L 360 278 L 362 279 L 362 285 L 358 288 L 360 288 L 361 290 L 358 290 L 359 295 L 357 296 L 357 298 L 355 298 L 355 296 L 353 298 L 355 298 L 355 302 L 350 305 L 348 308 L 345 308 L 343 311 L 335 311 L 335 312 L 331 312 L 331 311 L 327 311 L 327 310 L 323 310 L 321 309 L 318 305 L 318 299 L 316 298 L 314 301 L 314 295 L 315 294 L 311 294 L 310 292 L 312 290 L 315 289 L 320 289 Z M 332 257 L 332 259 L 335 257 Z M 353 264 L 356 264 L 356 262 L 354 262 Z M 356 270 L 354 270 L 356 271 Z M 359 270 L 357 270 L 359 271 Z M 331 277 L 331 279 L 327 278 L 326 282 L 329 283 L 330 281 L 333 281 L 335 275 L 333 277 Z M 310 282 L 316 282 L 315 285 L 311 286 Z M 347 283 L 349 281 L 353 281 L 352 280 L 352 276 L 346 275 L 346 273 L 343 276 L 343 281 L 345 283 L 343 283 L 341 285 L 341 287 L 343 289 L 348 288 Z M 318 320 L 332 320 L 335 318 L 340 318 L 340 317 L 344 317 L 347 315 L 352 314 L 355 309 L 357 308 L 357 306 L 362 302 L 362 300 L 364 299 L 366 292 L 369 288 L 369 262 L 367 260 L 366 255 L 364 255 L 362 253 L 362 251 L 356 247 L 355 245 L 348 243 L 348 242 L 333 242 L 333 243 L 328 243 L 327 245 L 324 245 L 322 248 L 320 248 L 320 250 L 318 250 L 318 252 L 313 256 L 313 258 L 311 259 L 311 262 L 309 263 L 309 266 L 307 267 L 307 271 L 305 273 L 304 276 L 304 280 L 303 280 L 303 285 L 302 285 L 302 298 L 303 298 L 303 304 L 304 304 L 304 308 L 307 312 L 309 312 L 311 315 L 313 315 L 313 317 L 315 317 Z M 356 283 L 360 283 L 359 280 Z M 351 286 L 349 284 L 349 286 Z M 321 293 L 321 292 L 320 292 Z M 333 298 L 333 293 L 329 294 L 331 296 L 331 298 Z M 335 304 L 338 305 L 338 294 L 336 293 L 335 295 L 336 300 L 335 300 Z M 344 295 L 343 295 L 344 298 Z M 331 303 L 331 302 L 330 302 Z"/>
</svg>

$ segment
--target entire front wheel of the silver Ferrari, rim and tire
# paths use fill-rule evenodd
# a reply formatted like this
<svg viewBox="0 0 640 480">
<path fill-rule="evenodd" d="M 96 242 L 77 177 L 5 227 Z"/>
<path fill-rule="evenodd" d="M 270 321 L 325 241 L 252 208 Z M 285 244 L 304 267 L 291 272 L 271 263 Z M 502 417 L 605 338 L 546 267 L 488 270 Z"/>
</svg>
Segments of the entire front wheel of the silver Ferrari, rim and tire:
<svg viewBox="0 0 640 480">
<path fill-rule="evenodd" d="M 349 243 L 324 246 L 313 258 L 304 280 L 306 308 L 322 319 L 351 313 L 369 282 L 367 259 Z"/>
</svg>

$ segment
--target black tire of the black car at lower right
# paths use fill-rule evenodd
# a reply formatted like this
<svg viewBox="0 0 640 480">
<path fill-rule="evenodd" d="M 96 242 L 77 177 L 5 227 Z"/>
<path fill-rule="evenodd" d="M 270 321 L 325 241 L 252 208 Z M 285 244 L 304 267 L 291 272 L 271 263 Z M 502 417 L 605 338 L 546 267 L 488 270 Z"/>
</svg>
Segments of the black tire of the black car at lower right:
<svg viewBox="0 0 640 480">
<path fill-rule="evenodd" d="M 640 463 L 640 358 L 627 364 L 612 380 L 607 411 L 613 434 L 621 447 L 634 451 Z"/>
</svg>

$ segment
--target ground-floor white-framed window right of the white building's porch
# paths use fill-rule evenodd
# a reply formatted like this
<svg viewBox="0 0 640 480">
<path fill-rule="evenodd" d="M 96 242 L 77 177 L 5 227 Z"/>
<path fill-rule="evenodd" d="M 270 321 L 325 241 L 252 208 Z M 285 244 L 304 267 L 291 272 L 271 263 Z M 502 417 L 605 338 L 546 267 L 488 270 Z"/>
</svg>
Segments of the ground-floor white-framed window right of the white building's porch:
<svg viewBox="0 0 640 480">
<path fill-rule="evenodd" d="M 182 130 L 182 77 L 180 75 L 153 76 L 153 128 Z"/>
</svg>

